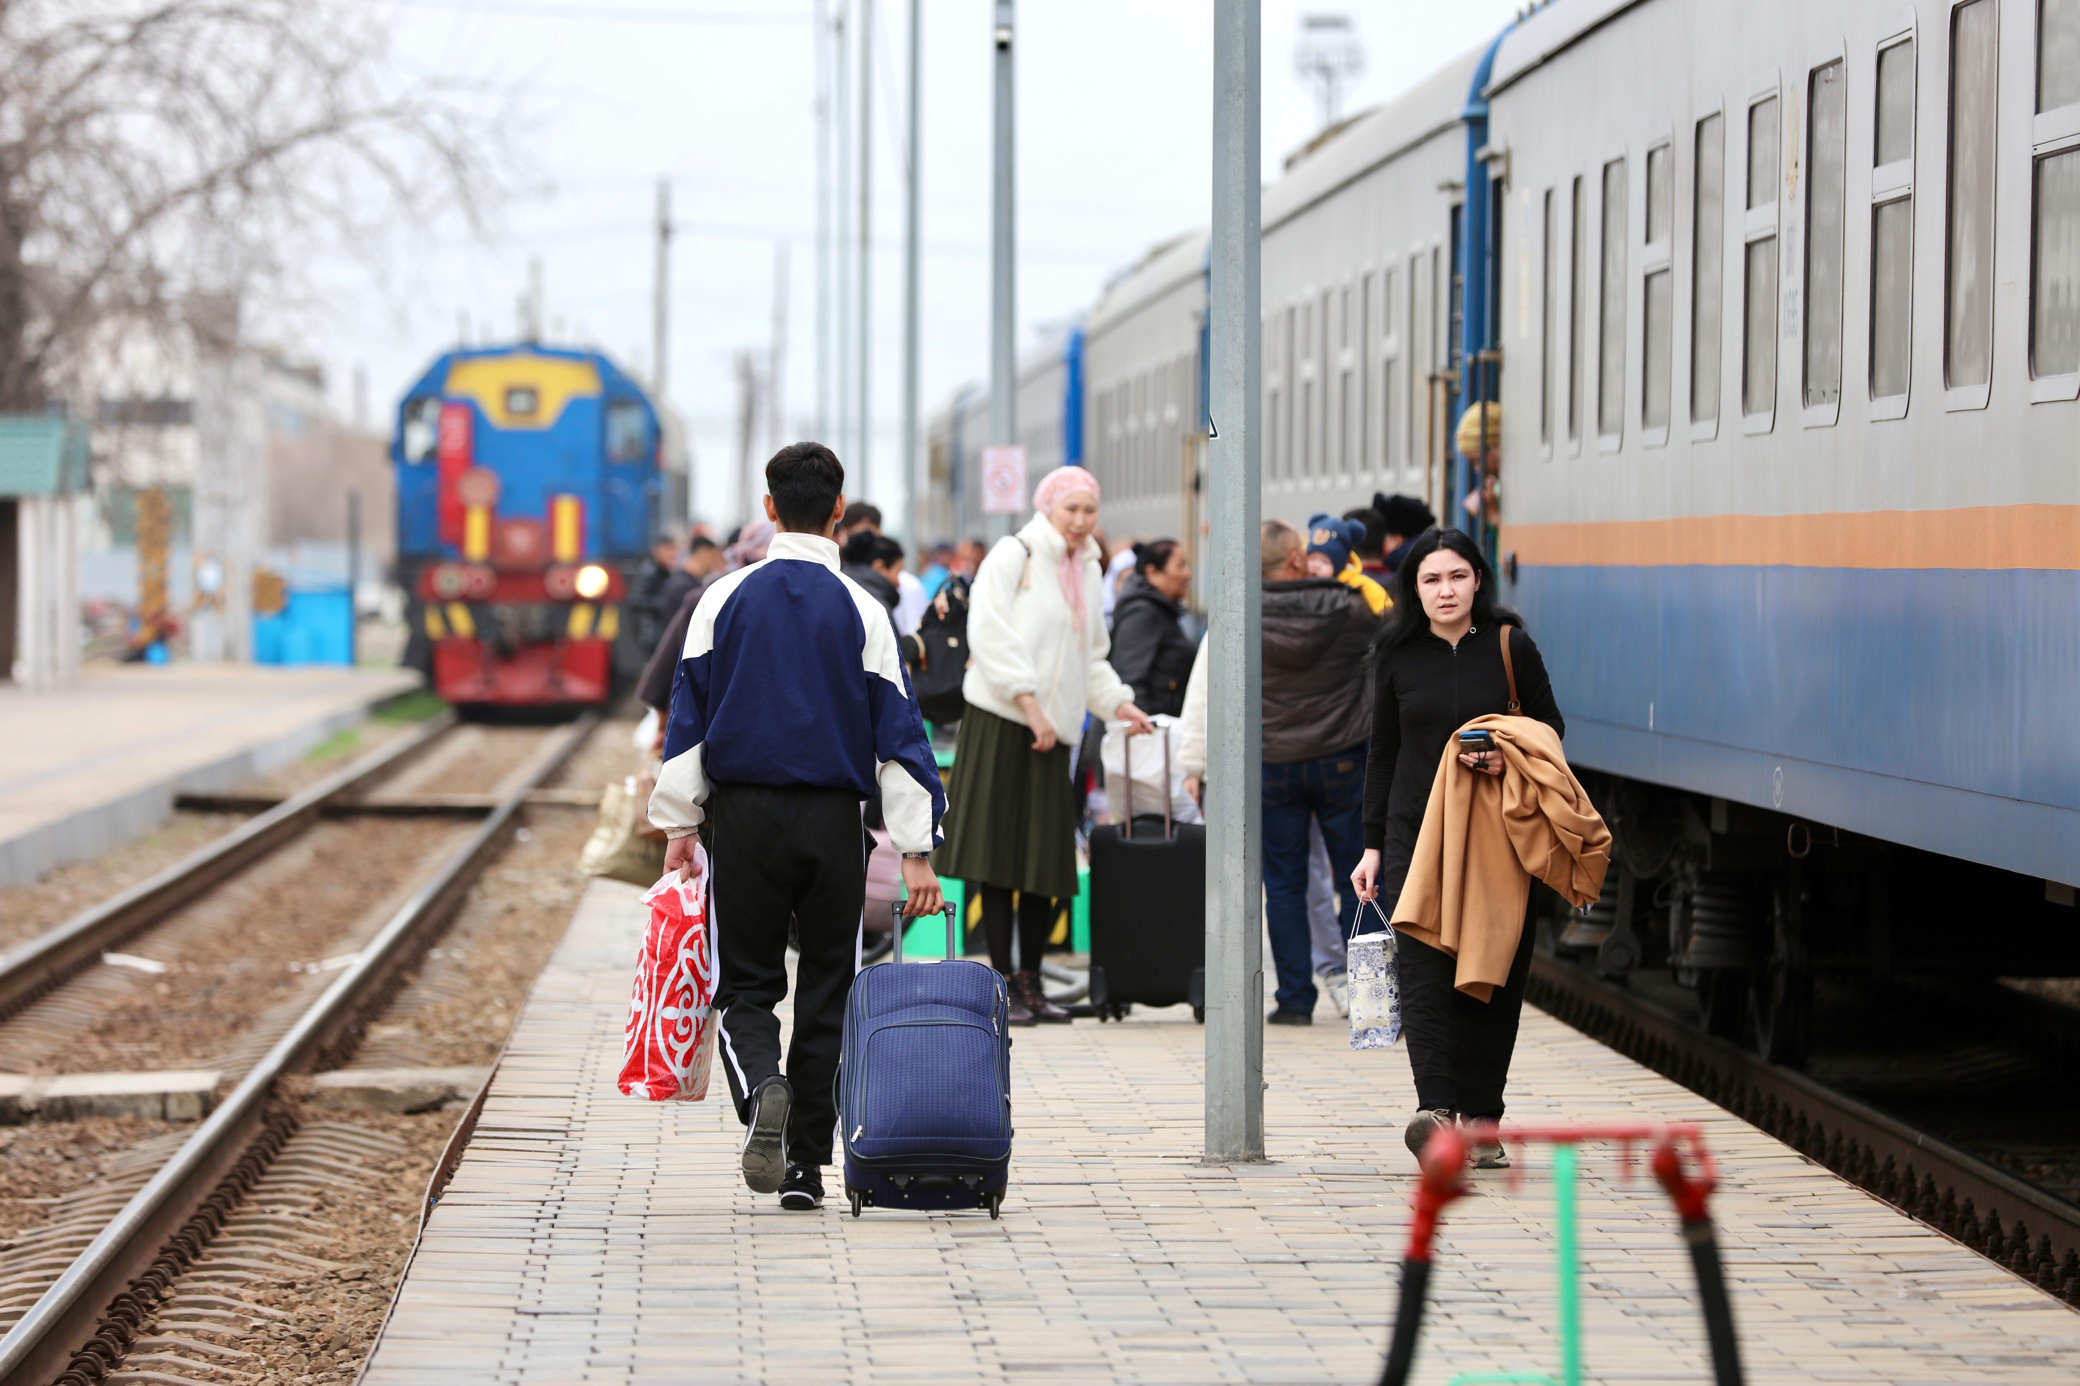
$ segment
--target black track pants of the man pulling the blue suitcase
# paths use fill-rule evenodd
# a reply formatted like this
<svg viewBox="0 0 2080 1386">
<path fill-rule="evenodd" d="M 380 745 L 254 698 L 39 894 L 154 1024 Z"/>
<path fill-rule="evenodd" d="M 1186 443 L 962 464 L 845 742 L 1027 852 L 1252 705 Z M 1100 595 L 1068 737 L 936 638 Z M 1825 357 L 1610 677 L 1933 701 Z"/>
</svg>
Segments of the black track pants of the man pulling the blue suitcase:
<svg viewBox="0 0 2080 1386">
<path fill-rule="evenodd" d="M 859 796 L 807 785 L 716 785 L 707 823 L 722 954 L 718 1049 L 736 1120 L 751 1118 L 751 1091 L 780 1072 L 774 1006 L 786 997 L 792 921 L 801 960 L 786 1049 L 786 1078 L 795 1089 L 786 1157 L 788 1164 L 830 1164 L 830 1132 L 838 1122 L 830 1085 L 844 1035 L 844 995 L 859 972 L 859 912 L 872 846 L 859 823 Z"/>
</svg>

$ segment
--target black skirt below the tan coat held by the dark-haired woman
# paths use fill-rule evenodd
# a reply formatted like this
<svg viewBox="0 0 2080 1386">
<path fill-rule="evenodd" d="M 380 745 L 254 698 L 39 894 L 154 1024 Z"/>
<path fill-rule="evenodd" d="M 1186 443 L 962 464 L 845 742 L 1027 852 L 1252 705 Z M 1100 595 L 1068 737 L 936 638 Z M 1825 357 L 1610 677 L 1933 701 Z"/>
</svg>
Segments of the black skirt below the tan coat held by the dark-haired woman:
<svg viewBox="0 0 2080 1386">
<path fill-rule="evenodd" d="M 1537 902 L 1533 883 L 1531 900 Z M 1525 937 L 1510 962 L 1510 981 L 1477 1002 L 1452 979 L 1458 960 L 1402 933 L 1402 1031 L 1408 1035 L 1408 1068 L 1416 1076 L 1416 1105 L 1444 1108 L 1473 1118 L 1502 1118 L 1502 1089 L 1510 1081 L 1516 1054 L 1516 1020 L 1525 1012 L 1525 979 L 1531 977 L 1531 943 L 1537 935 L 1531 910 Z"/>
</svg>

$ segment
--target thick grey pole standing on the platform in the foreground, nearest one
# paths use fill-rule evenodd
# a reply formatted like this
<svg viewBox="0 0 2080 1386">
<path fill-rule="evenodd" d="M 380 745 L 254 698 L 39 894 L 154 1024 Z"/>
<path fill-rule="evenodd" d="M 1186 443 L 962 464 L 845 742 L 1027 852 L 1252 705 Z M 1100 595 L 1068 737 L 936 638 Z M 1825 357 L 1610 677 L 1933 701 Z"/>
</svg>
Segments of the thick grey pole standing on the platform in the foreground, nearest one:
<svg viewBox="0 0 2080 1386">
<path fill-rule="evenodd" d="M 1213 8 L 1206 1160 L 1265 1157 L 1258 0 Z"/>
</svg>

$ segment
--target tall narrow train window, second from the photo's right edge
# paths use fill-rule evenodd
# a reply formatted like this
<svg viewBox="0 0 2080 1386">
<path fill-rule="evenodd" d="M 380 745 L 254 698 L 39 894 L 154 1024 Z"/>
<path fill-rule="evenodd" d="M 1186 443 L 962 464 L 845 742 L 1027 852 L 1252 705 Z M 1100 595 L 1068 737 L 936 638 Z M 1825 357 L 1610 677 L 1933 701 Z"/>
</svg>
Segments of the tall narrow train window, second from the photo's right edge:
<svg viewBox="0 0 2080 1386">
<path fill-rule="evenodd" d="M 1993 380 L 1993 162 L 1999 21 L 1995 0 L 1951 10 L 1949 216 L 1943 378 L 1955 407 L 1984 407 Z"/>
</svg>

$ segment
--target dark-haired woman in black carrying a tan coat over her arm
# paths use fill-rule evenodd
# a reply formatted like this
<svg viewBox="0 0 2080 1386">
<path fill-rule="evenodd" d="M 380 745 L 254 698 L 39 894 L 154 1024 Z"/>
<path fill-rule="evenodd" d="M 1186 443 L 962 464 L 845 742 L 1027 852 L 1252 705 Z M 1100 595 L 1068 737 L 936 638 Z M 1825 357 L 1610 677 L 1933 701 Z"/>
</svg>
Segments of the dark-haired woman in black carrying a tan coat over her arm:
<svg viewBox="0 0 2080 1386">
<path fill-rule="evenodd" d="M 1516 669 L 1520 715 L 1564 736 L 1566 721 L 1554 702 L 1539 646 L 1514 611 L 1496 605 L 1496 576 L 1479 544 L 1460 530 L 1431 528 L 1416 536 L 1394 576 L 1394 617 L 1375 659 L 1364 858 L 1350 875 L 1358 898 L 1379 900 L 1389 918 L 1408 879 L 1446 744 L 1475 717 L 1508 711 L 1504 638 Z M 1496 752 L 1460 754 L 1460 763 L 1487 775 L 1502 773 Z M 1416 1155 L 1439 1124 L 1502 1118 L 1502 1089 L 1531 972 L 1531 939 L 1527 908 L 1510 981 L 1483 1004 L 1456 989 L 1450 954 L 1400 935 L 1402 1024 L 1419 1108 L 1406 1139 Z M 1500 1168 L 1508 1155 L 1500 1143 L 1477 1143 L 1475 1164 Z"/>
</svg>

